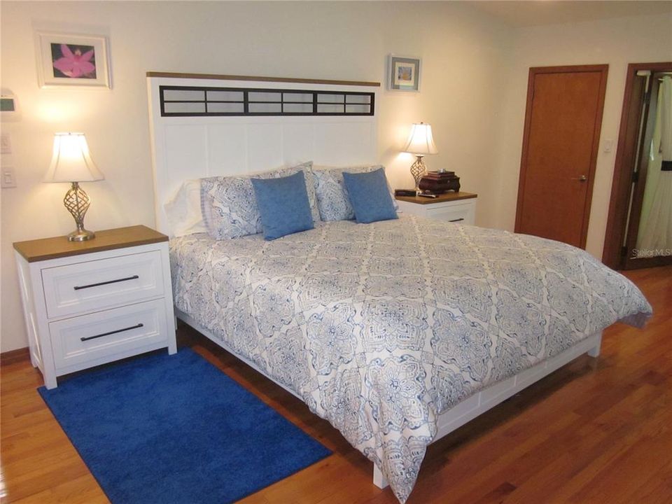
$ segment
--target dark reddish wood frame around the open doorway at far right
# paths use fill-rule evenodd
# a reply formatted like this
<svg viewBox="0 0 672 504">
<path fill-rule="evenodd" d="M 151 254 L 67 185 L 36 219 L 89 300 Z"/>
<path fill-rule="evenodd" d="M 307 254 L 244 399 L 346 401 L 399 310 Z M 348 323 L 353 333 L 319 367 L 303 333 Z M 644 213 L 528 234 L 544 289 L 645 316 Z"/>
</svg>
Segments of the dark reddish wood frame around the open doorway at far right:
<svg viewBox="0 0 672 504">
<path fill-rule="evenodd" d="M 627 132 L 630 116 L 630 101 L 633 93 L 633 83 L 637 72 L 640 70 L 665 71 L 672 68 L 672 62 L 658 63 L 631 63 L 628 65 L 623 94 L 623 106 L 621 111 L 621 124 L 618 130 L 618 144 L 616 160 L 614 163 L 614 176 L 611 185 L 611 198 L 607 216 L 607 228 L 605 230 L 602 262 L 610 268 L 622 269 L 624 256 L 622 255 L 623 241 L 625 239 L 626 226 L 629 217 L 629 203 L 634 172 L 634 158 L 636 153 L 631 152 L 627 146 Z M 640 113 L 638 111 L 637 113 Z M 626 251 L 627 253 L 627 251 Z M 657 265 L 658 258 L 652 258 L 651 266 Z"/>
</svg>

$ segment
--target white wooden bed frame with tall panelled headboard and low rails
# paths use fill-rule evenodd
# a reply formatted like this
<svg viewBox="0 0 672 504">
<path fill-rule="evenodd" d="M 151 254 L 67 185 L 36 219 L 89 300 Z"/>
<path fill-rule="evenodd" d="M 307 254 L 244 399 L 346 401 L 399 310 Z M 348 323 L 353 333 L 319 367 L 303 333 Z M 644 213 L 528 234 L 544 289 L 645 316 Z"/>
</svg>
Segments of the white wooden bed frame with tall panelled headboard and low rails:
<svg viewBox="0 0 672 504">
<path fill-rule="evenodd" d="M 307 160 L 312 160 L 316 165 L 331 166 L 378 162 L 377 110 L 373 116 L 162 117 L 158 106 L 160 85 L 376 93 L 379 85 L 324 80 L 148 73 L 156 223 L 158 230 L 166 234 L 170 234 L 170 229 L 163 204 L 187 179 L 261 172 Z M 375 99 L 375 104 L 377 108 L 378 99 Z M 176 310 L 176 317 L 300 398 L 295 391 L 269 377 L 257 365 L 238 356 L 233 349 L 188 314 Z M 440 414 L 434 440 L 475 419 L 583 353 L 597 357 L 601 340 L 601 332 L 591 335 L 563 353 L 463 400 Z M 373 482 L 381 489 L 387 486 L 385 477 L 375 464 Z"/>
</svg>

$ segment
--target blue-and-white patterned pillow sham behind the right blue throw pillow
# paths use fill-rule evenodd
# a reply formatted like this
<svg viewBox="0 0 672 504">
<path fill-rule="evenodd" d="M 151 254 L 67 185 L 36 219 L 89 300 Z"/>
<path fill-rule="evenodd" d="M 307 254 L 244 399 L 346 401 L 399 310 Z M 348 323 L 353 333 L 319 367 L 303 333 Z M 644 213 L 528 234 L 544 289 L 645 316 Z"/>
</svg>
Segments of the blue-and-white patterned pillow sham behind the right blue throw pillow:
<svg viewBox="0 0 672 504">
<path fill-rule="evenodd" d="M 315 194 L 321 219 L 323 221 L 352 221 L 355 218 L 355 211 L 350 204 L 348 190 L 343 182 L 343 172 L 369 173 L 380 168 L 385 169 L 382 165 L 339 168 L 315 167 L 313 170 Z M 390 189 L 389 186 L 388 189 Z M 392 192 L 391 189 L 390 192 Z M 398 209 L 394 197 L 392 202 L 394 209 Z"/>
</svg>

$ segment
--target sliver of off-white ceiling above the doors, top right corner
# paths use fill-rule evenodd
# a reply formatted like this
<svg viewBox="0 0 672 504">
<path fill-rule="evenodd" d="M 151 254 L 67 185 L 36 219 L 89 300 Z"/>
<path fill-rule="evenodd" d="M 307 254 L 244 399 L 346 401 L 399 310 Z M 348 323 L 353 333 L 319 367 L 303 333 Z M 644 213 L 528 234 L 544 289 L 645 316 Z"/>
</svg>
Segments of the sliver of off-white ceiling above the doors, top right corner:
<svg viewBox="0 0 672 504">
<path fill-rule="evenodd" d="M 672 0 L 659 1 L 472 1 L 472 6 L 517 27 L 672 13 Z M 672 26 L 670 27 L 672 29 Z"/>
</svg>

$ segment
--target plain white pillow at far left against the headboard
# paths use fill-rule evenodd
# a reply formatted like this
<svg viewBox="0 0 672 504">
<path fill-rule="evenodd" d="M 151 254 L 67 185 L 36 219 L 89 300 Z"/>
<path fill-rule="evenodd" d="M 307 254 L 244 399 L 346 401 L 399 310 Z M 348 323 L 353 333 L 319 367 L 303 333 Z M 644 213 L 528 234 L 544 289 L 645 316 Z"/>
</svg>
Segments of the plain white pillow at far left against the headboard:
<svg viewBox="0 0 672 504">
<path fill-rule="evenodd" d="M 174 237 L 208 232 L 201 213 L 201 181 L 187 180 L 163 205 Z"/>
</svg>

